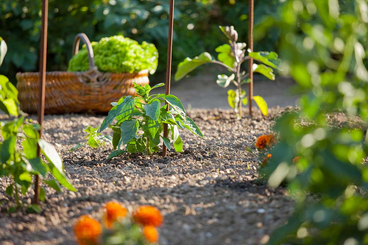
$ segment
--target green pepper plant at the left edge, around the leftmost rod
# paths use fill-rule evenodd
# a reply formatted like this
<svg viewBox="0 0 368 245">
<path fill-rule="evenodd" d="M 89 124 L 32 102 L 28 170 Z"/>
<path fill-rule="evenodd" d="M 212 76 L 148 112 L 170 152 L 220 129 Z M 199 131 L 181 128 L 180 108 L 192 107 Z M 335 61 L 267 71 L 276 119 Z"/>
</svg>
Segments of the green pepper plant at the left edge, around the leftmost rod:
<svg viewBox="0 0 368 245">
<path fill-rule="evenodd" d="M 0 44 L 0 63 L 6 52 L 6 48 Z M 20 111 L 17 99 L 18 91 L 9 82 L 6 76 L 0 75 L 0 110 L 11 116 L 18 116 Z M 23 116 L 0 122 L 2 140 L 0 142 L 0 177 L 11 177 L 13 182 L 6 188 L 9 197 L 15 197 L 16 206 L 8 211 L 21 206 L 19 194 L 25 195 L 32 184 L 32 176 L 38 174 L 43 177 L 43 182 L 57 191 L 60 191 L 59 183 L 68 190 L 76 191 L 69 183 L 64 173 L 63 162 L 57 151 L 45 140 L 40 139 L 39 125 L 26 120 Z M 19 148 L 19 144 L 22 148 Z M 45 156 L 44 159 L 37 156 L 37 146 Z M 50 178 L 53 176 L 55 179 Z M 59 183 L 58 183 L 59 182 Z M 45 190 L 40 188 L 40 199 L 45 200 Z M 40 212 L 38 205 L 28 207 L 31 212 Z"/>
</svg>

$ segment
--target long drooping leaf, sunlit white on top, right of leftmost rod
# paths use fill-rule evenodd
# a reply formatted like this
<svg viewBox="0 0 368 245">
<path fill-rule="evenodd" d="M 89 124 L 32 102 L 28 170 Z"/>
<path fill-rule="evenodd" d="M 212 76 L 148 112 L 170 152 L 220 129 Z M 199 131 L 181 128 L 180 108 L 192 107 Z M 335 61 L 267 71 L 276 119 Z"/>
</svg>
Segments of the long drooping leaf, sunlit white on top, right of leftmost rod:
<svg viewBox="0 0 368 245">
<path fill-rule="evenodd" d="M 49 161 L 51 173 L 53 176 L 60 182 L 60 184 L 64 185 L 70 191 L 77 191 L 68 181 L 63 169 L 63 162 L 56 149 L 47 143 L 46 141 L 39 139 L 38 145 L 40 146 L 43 155 L 46 157 L 47 161 Z"/>
</svg>

